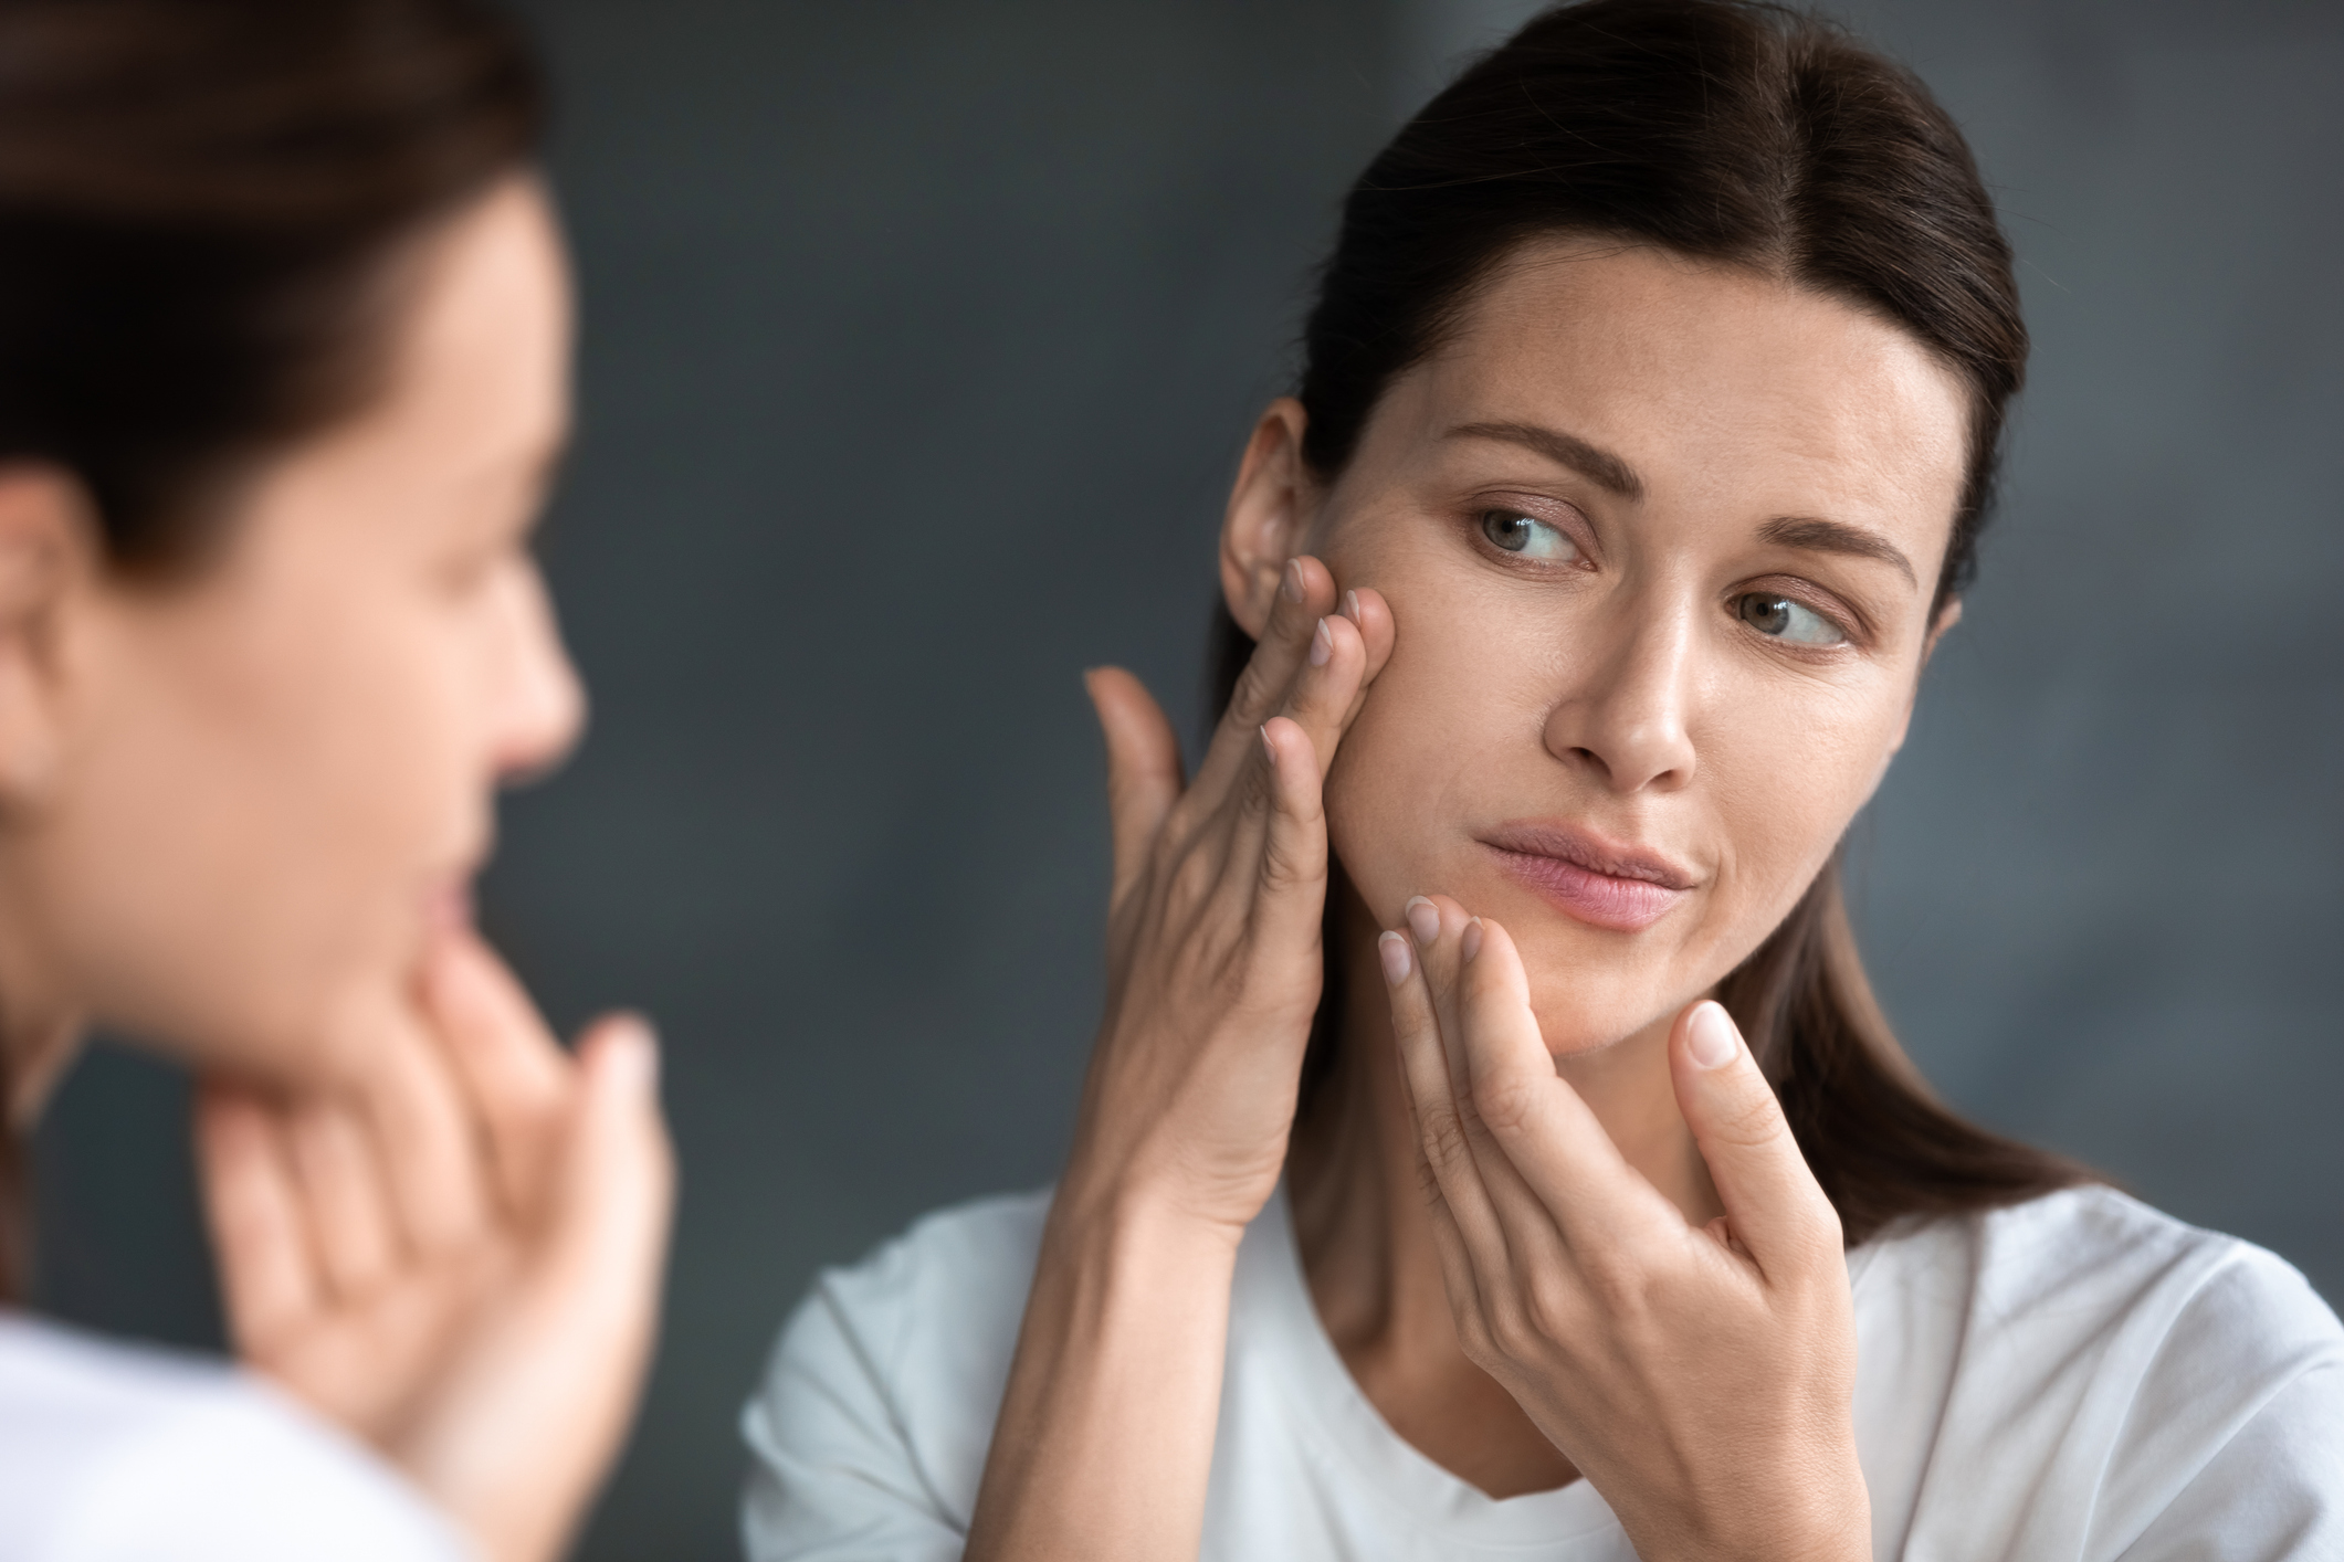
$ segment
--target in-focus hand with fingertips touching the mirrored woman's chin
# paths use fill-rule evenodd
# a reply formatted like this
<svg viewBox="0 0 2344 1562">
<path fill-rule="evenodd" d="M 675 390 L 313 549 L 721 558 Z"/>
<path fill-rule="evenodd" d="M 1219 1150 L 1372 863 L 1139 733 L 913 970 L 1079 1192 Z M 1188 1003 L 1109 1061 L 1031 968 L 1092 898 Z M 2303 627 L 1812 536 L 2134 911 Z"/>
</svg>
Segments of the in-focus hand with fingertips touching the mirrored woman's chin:
<svg viewBox="0 0 2344 1562">
<path fill-rule="evenodd" d="M 1465 1354 L 1641 1557 L 1871 1557 L 1840 1220 L 1725 1009 L 1669 1035 L 1704 1227 L 1556 1073 L 1505 930 L 1446 897 L 1409 923 L 1378 955 Z"/>
</svg>

